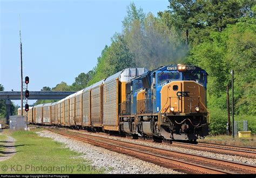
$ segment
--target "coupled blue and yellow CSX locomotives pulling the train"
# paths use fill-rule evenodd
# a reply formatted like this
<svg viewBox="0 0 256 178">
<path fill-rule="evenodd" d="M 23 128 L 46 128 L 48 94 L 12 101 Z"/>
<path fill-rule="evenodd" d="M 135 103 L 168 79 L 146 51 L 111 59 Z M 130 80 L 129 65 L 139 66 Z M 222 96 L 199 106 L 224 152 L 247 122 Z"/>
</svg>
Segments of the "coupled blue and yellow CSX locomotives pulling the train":
<svg viewBox="0 0 256 178">
<path fill-rule="evenodd" d="M 120 130 L 133 136 L 197 140 L 208 135 L 207 73 L 188 65 L 166 65 L 126 84 Z"/>
</svg>

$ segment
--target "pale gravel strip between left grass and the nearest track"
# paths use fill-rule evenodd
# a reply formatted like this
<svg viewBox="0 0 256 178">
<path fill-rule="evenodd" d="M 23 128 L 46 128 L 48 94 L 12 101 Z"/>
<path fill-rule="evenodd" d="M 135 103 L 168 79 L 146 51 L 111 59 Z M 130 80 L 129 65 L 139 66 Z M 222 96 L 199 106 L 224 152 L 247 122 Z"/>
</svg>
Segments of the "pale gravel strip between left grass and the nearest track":
<svg viewBox="0 0 256 178">
<path fill-rule="evenodd" d="M 182 174 L 172 169 L 154 165 L 131 156 L 112 152 L 105 148 L 96 147 L 88 143 L 66 138 L 50 131 L 36 132 L 39 136 L 51 138 L 64 143 L 65 147 L 82 153 L 82 157 L 91 161 L 92 166 L 105 168 L 109 174 Z"/>
</svg>

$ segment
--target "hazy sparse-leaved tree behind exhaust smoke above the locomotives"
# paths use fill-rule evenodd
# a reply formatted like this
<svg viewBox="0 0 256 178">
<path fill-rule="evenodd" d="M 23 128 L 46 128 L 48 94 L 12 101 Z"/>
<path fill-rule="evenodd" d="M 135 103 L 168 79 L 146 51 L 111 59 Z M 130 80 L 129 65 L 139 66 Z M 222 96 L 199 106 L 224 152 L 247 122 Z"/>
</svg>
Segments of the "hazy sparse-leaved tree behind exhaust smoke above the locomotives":
<svg viewBox="0 0 256 178">
<path fill-rule="evenodd" d="M 168 16 L 163 12 L 161 18 L 158 18 L 152 13 L 145 16 L 143 11 L 138 10 L 134 5 L 127 9 L 127 16 L 132 20 L 124 25 L 123 36 L 135 66 L 154 69 L 156 66 L 184 60 L 187 46 L 183 44 L 176 29 L 172 28 L 170 13 Z M 132 12 L 131 9 L 133 9 Z M 137 16 L 143 16 L 143 18 L 138 19 Z"/>
</svg>

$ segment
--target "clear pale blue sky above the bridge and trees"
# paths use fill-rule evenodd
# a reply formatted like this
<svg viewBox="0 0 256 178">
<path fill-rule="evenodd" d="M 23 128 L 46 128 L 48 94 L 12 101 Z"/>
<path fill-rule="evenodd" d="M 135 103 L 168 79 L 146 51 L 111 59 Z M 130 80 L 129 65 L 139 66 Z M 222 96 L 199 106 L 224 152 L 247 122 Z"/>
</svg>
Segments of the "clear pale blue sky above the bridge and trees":
<svg viewBox="0 0 256 178">
<path fill-rule="evenodd" d="M 113 34 L 122 31 L 130 2 L 0 0 L 0 84 L 5 91 L 20 90 L 19 15 L 23 77 L 30 77 L 30 91 L 39 91 L 61 81 L 71 85 L 79 73 L 92 70 Z M 169 5 L 167 0 L 133 2 L 154 15 Z"/>
</svg>

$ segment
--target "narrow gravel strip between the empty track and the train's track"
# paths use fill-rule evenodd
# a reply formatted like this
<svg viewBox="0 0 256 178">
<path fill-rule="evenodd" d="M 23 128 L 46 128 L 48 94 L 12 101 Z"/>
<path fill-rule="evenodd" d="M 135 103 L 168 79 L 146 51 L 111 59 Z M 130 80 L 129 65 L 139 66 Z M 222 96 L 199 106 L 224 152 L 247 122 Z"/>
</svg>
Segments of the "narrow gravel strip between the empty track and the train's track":
<svg viewBox="0 0 256 178">
<path fill-rule="evenodd" d="M 145 141 L 145 140 L 134 140 L 134 139 L 124 138 L 124 137 L 119 137 L 119 136 L 111 136 L 111 135 L 104 135 L 104 134 L 99 135 L 97 133 L 91 133 L 91 132 L 86 132 L 86 134 L 98 135 L 98 136 L 103 136 L 105 138 L 111 138 L 111 139 L 116 139 L 116 140 L 124 140 L 124 141 L 132 142 L 132 143 L 139 143 L 140 145 L 145 145 L 145 146 L 153 146 L 153 147 L 175 150 L 175 151 L 184 152 L 184 153 L 208 156 L 208 157 L 211 157 L 211 158 L 217 158 L 217 159 L 223 159 L 223 160 L 228 160 L 228 161 L 235 161 L 235 162 L 241 162 L 241 163 L 256 165 L 256 160 L 255 159 L 245 158 L 245 157 L 242 157 L 242 156 L 234 156 L 234 155 L 227 155 L 227 154 L 205 152 L 205 151 L 201 151 L 201 150 L 194 150 L 194 149 L 188 149 L 188 148 L 180 148 L 180 147 L 177 147 L 177 146 L 172 146 L 172 145 L 167 144 L 167 143 L 166 144 L 161 144 L 161 143 L 152 142 L 150 140 L 147 140 L 147 141 Z"/>
</svg>

